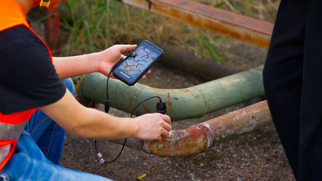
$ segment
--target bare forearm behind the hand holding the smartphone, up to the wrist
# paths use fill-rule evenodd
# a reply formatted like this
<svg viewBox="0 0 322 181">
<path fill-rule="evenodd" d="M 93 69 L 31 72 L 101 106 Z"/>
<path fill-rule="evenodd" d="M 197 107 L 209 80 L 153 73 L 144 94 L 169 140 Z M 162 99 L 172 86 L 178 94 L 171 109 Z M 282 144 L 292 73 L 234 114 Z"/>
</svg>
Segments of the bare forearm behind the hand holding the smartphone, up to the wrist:
<svg viewBox="0 0 322 181">
<path fill-rule="evenodd" d="M 96 72 L 99 59 L 95 55 L 96 53 L 72 57 L 52 57 L 52 62 L 59 78 L 65 79 Z"/>
</svg>

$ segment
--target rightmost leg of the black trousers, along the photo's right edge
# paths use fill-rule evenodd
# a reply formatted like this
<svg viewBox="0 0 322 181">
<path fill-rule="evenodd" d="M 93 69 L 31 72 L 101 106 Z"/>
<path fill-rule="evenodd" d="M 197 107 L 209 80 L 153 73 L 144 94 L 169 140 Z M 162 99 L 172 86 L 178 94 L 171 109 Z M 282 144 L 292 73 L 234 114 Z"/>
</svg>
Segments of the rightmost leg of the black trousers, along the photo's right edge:
<svg viewBox="0 0 322 181">
<path fill-rule="evenodd" d="M 308 14 L 299 124 L 299 180 L 322 180 L 322 1 Z"/>
</svg>

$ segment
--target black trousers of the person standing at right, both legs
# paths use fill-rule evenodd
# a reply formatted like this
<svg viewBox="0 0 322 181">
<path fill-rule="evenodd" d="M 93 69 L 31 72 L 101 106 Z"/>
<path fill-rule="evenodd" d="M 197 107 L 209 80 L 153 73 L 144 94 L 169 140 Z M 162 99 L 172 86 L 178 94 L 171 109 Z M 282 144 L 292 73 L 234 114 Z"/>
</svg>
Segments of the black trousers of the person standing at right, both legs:
<svg viewBox="0 0 322 181">
<path fill-rule="evenodd" d="M 263 71 L 297 180 L 322 180 L 322 0 L 281 0 Z"/>
</svg>

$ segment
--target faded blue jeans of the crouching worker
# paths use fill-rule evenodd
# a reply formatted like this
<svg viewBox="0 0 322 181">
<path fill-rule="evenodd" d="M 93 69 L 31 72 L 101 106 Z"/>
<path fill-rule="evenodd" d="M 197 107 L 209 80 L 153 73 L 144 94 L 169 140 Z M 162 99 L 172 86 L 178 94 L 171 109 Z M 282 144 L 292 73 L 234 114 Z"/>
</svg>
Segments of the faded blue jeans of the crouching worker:
<svg viewBox="0 0 322 181">
<path fill-rule="evenodd" d="M 62 81 L 74 95 L 71 79 Z M 14 154 L 2 168 L 0 181 L 110 181 L 98 175 L 60 167 L 64 138 L 65 130 L 42 111 L 37 110 L 17 141 Z"/>
</svg>

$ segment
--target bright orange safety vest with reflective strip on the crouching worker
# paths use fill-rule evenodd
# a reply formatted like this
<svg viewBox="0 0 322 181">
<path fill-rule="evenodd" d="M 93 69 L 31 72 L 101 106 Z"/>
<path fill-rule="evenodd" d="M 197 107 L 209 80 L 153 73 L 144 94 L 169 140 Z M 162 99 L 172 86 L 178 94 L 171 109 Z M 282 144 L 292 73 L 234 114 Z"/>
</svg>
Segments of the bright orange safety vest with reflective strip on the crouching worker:
<svg viewBox="0 0 322 181">
<path fill-rule="evenodd" d="M 25 25 L 30 31 L 35 33 L 30 28 L 22 6 L 19 3 L 14 0 L 0 0 L 0 7 L 0 32 L 17 25 Z M 38 36 L 36 33 L 35 35 Z M 38 38 L 41 40 L 39 36 Z M 0 40 L 0 43 L 5 42 L 1 42 Z M 44 44 L 46 45 L 46 43 Z M 46 47 L 50 59 L 52 60 L 52 52 L 47 45 Z M 38 108 L 34 108 L 6 115 L 2 114 L 0 111 L 0 170 L 8 162 L 27 121 L 37 109 Z"/>
</svg>

